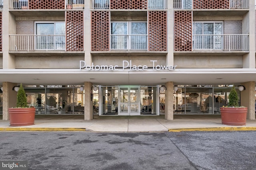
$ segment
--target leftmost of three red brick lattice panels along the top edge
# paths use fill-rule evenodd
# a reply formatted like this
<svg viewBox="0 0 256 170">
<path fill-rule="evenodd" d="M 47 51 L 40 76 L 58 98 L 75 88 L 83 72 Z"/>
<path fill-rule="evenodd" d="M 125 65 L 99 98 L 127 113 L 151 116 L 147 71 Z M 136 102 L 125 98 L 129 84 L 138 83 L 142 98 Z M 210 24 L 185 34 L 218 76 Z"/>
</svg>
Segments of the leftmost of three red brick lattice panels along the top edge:
<svg viewBox="0 0 256 170">
<path fill-rule="evenodd" d="M 28 9 L 65 9 L 65 0 L 29 0 Z"/>
</svg>

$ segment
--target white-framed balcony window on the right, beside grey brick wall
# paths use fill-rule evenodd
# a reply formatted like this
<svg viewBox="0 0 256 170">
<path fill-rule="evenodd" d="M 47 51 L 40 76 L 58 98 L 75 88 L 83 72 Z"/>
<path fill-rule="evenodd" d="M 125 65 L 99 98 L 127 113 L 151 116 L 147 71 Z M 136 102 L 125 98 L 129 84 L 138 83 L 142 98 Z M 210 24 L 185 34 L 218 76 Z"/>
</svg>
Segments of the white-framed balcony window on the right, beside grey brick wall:
<svg viewBox="0 0 256 170">
<path fill-rule="evenodd" d="M 193 49 L 223 49 L 222 22 L 194 22 Z"/>
</svg>

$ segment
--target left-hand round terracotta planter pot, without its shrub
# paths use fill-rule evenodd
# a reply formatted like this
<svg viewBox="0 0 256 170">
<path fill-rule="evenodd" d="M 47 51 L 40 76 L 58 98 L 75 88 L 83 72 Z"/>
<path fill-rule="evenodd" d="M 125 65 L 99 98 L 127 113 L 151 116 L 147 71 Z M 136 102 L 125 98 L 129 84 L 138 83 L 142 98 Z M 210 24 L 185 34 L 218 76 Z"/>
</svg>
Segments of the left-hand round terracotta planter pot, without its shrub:
<svg viewBox="0 0 256 170">
<path fill-rule="evenodd" d="M 10 126 L 34 125 L 36 108 L 9 108 Z"/>
</svg>

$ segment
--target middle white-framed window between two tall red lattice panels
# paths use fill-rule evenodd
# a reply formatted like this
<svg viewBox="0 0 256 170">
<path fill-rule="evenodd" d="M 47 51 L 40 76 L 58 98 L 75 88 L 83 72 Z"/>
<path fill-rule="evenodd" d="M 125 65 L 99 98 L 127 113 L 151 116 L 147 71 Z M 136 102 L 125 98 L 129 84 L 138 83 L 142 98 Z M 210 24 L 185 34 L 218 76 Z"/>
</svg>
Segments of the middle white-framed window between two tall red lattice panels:
<svg viewBox="0 0 256 170">
<path fill-rule="evenodd" d="M 146 22 L 111 23 L 111 49 L 146 50 L 147 48 Z"/>
</svg>

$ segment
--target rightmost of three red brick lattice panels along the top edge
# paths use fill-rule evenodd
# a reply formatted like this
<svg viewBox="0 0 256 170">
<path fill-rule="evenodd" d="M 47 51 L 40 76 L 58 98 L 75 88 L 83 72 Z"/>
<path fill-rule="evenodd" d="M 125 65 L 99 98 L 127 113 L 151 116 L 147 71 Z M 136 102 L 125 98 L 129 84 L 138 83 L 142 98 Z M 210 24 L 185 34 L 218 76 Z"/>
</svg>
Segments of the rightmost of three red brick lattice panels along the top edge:
<svg viewBox="0 0 256 170">
<path fill-rule="evenodd" d="M 193 9 L 228 9 L 230 0 L 193 0 Z"/>
</svg>

